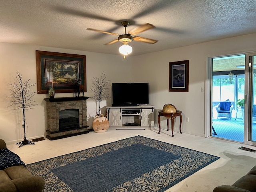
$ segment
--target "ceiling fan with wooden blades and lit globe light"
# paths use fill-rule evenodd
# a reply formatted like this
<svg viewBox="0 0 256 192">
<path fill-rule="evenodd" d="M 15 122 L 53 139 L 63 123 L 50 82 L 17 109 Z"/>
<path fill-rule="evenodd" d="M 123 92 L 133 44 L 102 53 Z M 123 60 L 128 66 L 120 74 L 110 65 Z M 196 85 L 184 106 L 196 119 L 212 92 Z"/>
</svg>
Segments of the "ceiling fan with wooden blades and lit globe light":
<svg viewBox="0 0 256 192">
<path fill-rule="evenodd" d="M 119 48 L 119 52 L 124 55 L 124 58 L 125 58 L 126 55 L 128 55 L 128 54 L 130 54 L 132 52 L 132 47 L 128 45 L 128 43 L 132 42 L 132 40 L 140 41 L 140 42 L 144 42 L 144 43 L 149 43 L 149 44 L 154 44 L 154 43 L 157 42 L 157 40 L 154 40 L 154 39 L 134 36 L 134 35 L 137 35 L 137 34 L 139 34 L 141 32 L 144 32 L 146 30 L 155 28 L 154 25 L 146 23 L 144 25 L 140 25 L 140 26 L 130 30 L 128 32 L 128 34 L 126 34 L 126 27 L 129 25 L 129 22 L 128 21 L 123 21 L 123 22 L 121 22 L 121 24 L 122 24 L 122 26 L 124 26 L 124 34 L 117 34 L 117 33 L 112 33 L 112 32 L 106 32 L 106 31 L 92 29 L 92 28 L 87 28 L 87 29 L 88 30 L 93 30 L 93 31 L 96 31 L 96 32 L 100 32 L 100 33 L 106 33 L 106 34 L 110 34 L 110 35 L 117 35 L 117 36 L 119 36 L 118 39 L 110 41 L 110 42 L 106 43 L 105 45 L 111 45 L 111 44 L 114 44 L 114 43 L 116 43 L 118 41 L 122 42 L 123 44 Z"/>
</svg>

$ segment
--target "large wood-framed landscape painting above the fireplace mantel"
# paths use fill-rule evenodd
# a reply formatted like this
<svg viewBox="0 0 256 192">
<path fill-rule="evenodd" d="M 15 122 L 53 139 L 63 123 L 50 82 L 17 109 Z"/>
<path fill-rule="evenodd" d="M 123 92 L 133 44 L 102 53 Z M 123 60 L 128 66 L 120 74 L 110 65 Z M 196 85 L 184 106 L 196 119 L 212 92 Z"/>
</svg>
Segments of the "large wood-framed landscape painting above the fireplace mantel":
<svg viewBox="0 0 256 192">
<path fill-rule="evenodd" d="M 37 93 L 76 92 L 75 80 L 86 92 L 86 56 L 36 50 Z"/>
</svg>

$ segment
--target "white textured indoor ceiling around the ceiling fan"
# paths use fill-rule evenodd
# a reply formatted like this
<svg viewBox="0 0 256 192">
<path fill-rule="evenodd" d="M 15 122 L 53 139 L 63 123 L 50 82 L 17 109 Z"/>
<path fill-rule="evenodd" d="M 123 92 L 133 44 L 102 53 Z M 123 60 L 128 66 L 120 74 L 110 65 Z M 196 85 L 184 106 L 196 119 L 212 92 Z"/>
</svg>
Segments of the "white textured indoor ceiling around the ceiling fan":
<svg viewBox="0 0 256 192">
<path fill-rule="evenodd" d="M 117 38 L 86 28 L 139 36 L 155 44 L 130 42 L 131 56 L 256 32 L 256 0 L 1 0 L 0 42 L 119 54 Z"/>
</svg>

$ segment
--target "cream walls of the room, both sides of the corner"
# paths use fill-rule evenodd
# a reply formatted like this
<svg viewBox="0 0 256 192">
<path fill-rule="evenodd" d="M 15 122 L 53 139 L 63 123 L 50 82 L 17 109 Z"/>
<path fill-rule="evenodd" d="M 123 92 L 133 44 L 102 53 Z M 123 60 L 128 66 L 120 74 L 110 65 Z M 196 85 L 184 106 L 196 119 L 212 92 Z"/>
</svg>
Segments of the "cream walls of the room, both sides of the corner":
<svg viewBox="0 0 256 192">
<path fill-rule="evenodd" d="M 171 43 L 171 42 L 170 42 Z M 151 45 L 148 45 L 151 46 Z M 153 45 L 152 45 L 153 46 Z M 91 96 L 90 88 L 93 77 L 100 76 L 104 71 L 111 84 L 114 82 L 149 82 L 150 104 L 155 106 L 155 124 L 158 125 L 158 110 L 164 104 L 171 103 L 182 110 L 182 131 L 198 136 L 204 136 L 205 130 L 205 100 L 206 92 L 201 92 L 207 79 L 207 58 L 228 54 L 240 54 L 256 51 L 256 34 L 227 38 L 202 44 L 195 44 L 176 49 L 163 50 L 140 56 L 130 56 L 123 59 L 120 55 L 99 54 L 78 50 L 67 50 L 23 44 L 0 43 L 0 138 L 8 144 L 22 140 L 22 112 L 9 107 L 10 86 L 16 72 L 23 74 L 24 80 L 36 82 L 36 50 L 62 52 L 86 55 L 87 92 Z M 189 92 L 168 92 L 169 62 L 189 60 Z M 36 86 L 34 90 L 36 91 Z M 56 94 L 56 97 L 73 96 L 72 93 Z M 35 109 L 26 111 L 28 123 L 27 138 L 37 138 L 46 134 L 45 101 L 47 94 L 35 94 L 33 99 L 38 103 Z M 110 105 L 111 99 L 102 103 Z M 88 125 L 96 114 L 95 102 L 87 100 Z M 186 122 L 186 117 L 189 122 Z M 178 119 L 178 118 L 176 118 Z M 161 117 L 161 126 L 166 127 L 166 120 Z M 178 122 L 175 123 L 178 130 Z"/>
</svg>

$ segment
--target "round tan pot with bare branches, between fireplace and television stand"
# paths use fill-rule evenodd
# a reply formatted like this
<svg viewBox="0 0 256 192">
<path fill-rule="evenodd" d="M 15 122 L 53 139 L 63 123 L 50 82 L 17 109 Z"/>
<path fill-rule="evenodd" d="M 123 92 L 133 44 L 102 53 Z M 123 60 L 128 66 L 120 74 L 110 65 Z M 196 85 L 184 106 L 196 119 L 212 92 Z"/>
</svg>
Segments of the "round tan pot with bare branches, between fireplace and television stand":
<svg viewBox="0 0 256 192">
<path fill-rule="evenodd" d="M 108 85 L 108 82 L 110 80 L 106 80 L 106 75 L 102 72 L 100 78 L 93 78 L 92 80 L 92 88 L 91 92 L 93 93 L 93 96 L 91 97 L 96 102 L 96 108 L 97 103 L 99 103 L 98 111 L 96 112 L 96 116 L 94 121 L 92 122 L 92 128 L 97 133 L 103 133 L 108 130 L 109 122 L 106 118 L 107 113 L 102 114 L 100 109 L 100 102 L 103 100 L 106 100 L 110 98 L 108 96 L 108 89 L 110 86 Z"/>
</svg>

